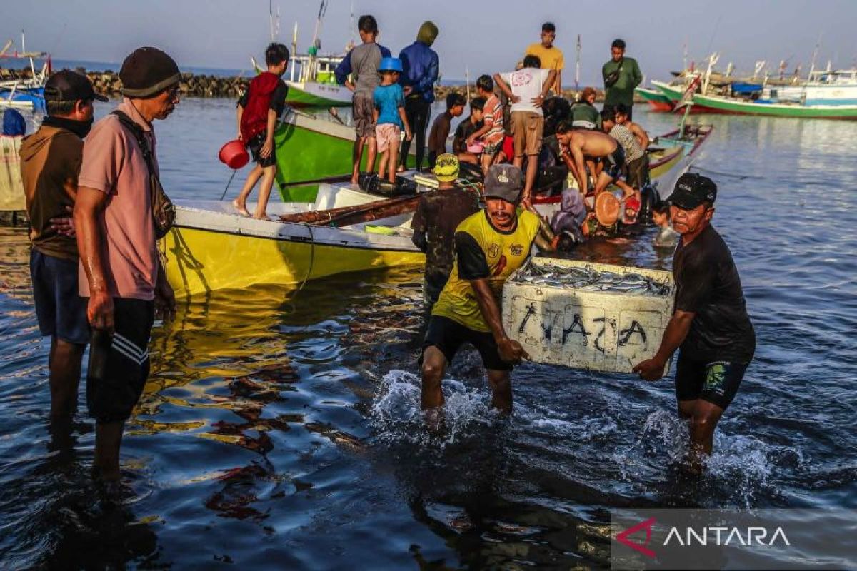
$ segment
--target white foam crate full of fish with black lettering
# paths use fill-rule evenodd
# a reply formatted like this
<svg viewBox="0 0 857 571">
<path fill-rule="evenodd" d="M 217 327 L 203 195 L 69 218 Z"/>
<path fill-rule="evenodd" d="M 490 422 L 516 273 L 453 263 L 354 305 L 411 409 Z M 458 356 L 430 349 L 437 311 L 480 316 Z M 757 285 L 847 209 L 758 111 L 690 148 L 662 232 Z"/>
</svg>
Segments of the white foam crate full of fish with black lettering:
<svg viewBox="0 0 857 571">
<path fill-rule="evenodd" d="M 536 258 L 531 262 L 641 275 L 668 285 L 670 292 L 582 291 L 518 283 L 510 278 L 503 288 L 503 324 L 506 334 L 520 342 L 533 361 L 591 371 L 631 372 L 638 362 L 655 355 L 673 315 L 674 281 L 670 272 L 569 259 Z"/>
</svg>

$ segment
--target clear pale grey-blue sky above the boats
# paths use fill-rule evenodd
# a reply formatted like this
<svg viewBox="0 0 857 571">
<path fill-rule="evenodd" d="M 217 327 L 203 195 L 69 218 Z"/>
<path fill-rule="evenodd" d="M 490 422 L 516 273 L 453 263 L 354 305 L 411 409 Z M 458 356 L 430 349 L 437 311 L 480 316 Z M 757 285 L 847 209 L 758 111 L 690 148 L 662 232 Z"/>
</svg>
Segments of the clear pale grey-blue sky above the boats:
<svg viewBox="0 0 857 571">
<path fill-rule="evenodd" d="M 51 51 L 60 59 L 121 62 L 136 47 L 154 45 L 180 66 L 247 68 L 269 40 L 268 0 L 30 0 L 7 6 L 0 19 L 0 44 L 21 28 L 27 48 Z M 273 0 L 279 5 L 279 39 L 291 45 L 298 24 L 298 51 L 306 51 L 320 0 Z M 14 4 L 15 8 L 11 9 Z M 424 20 L 440 27 L 434 49 L 448 79 L 508 70 L 526 45 L 538 41 L 542 21 L 557 27 L 556 45 L 565 52 L 563 82 L 574 78 L 575 44 L 581 36 L 581 83 L 600 85 L 600 68 L 614 38 L 628 44 L 647 79 L 662 79 L 682 64 L 683 45 L 700 62 L 720 51 L 719 68 L 734 62 L 752 71 L 767 60 L 776 70 L 809 67 L 819 35 L 817 67 L 828 59 L 847 68 L 857 59 L 857 0 L 697 0 L 612 2 L 576 0 L 354 0 L 354 13 L 375 15 L 381 44 L 394 54 L 410 44 Z M 339 52 L 351 39 L 351 1 L 331 0 L 321 30 L 323 52 Z M 359 38 L 357 38 L 359 41 Z"/>
</svg>

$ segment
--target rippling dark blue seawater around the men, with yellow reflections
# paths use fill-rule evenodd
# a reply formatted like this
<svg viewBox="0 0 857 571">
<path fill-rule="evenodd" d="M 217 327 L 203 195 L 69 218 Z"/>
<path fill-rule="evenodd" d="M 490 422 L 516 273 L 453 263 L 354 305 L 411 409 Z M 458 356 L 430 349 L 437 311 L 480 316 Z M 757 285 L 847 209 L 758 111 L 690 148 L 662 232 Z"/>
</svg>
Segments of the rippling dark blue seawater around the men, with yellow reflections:
<svg viewBox="0 0 857 571">
<path fill-rule="evenodd" d="M 193 116 L 193 102 L 183 105 Z M 699 166 L 744 177 L 713 175 L 715 221 L 758 354 L 704 479 L 671 469 L 685 441 L 671 378 L 527 365 L 514 374 L 515 411 L 501 418 L 470 352 L 445 384 L 446 432 L 429 435 L 415 376 L 420 276 L 399 271 L 181 305 L 154 331 L 152 378 L 123 448 L 126 485 L 99 489 L 82 399 L 70 429 L 46 425 L 27 237 L 0 228 L 3 568 L 602 567 L 611 508 L 857 507 L 855 126 L 714 122 Z M 159 132 L 162 149 L 180 136 L 173 125 Z M 203 139 L 187 152 L 204 154 Z M 197 195 L 173 157 L 162 157 L 166 180 Z M 574 255 L 670 261 L 649 235 Z"/>
</svg>

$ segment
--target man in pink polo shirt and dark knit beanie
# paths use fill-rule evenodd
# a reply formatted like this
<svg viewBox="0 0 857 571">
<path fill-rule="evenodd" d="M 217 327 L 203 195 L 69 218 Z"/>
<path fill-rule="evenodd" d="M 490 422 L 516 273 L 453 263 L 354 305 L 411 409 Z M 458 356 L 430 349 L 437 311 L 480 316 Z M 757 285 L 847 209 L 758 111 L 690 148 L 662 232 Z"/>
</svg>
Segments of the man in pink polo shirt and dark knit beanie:
<svg viewBox="0 0 857 571">
<path fill-rule="evenodd" d="M 148 376 L 153 320 L 176 309 L 153 222 L 152 123 L 175 109 L 181 75 L 163 51 L 140 48 L 125 58 L 119 79 L 125 98 L 87 137 L 75 202 L 81 295 L 93 328 L 87 406 L 97 422 L 95 469 L 109 480 L 119 478 L 124 423 Z"/>
</svg>

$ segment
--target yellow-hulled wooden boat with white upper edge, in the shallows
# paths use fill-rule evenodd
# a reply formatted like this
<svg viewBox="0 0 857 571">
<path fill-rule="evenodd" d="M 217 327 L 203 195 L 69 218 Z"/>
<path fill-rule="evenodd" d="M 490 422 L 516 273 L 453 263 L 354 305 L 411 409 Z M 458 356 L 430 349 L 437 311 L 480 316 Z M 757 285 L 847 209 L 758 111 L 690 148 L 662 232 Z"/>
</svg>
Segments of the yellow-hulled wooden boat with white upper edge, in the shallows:
<svg viewBox="0 0 857 571">
<path fill-rule="evenodd" d="M 345 183 L 322 184 L 315 203 L 273 203 L 268 211 L 300 217 L 386 198 Z M 425 257 L 411 243 L 415 205 L 368 223 L 340 218 L 345 224 L 334 227 L 244 217 L 229 202 L 177 200 L 176 225 L 160 243 L 167 279 L 177 296 L 188 296 L 257 283 L 298 287 L 344 272 L 420 265 Z"/>
</svg>

